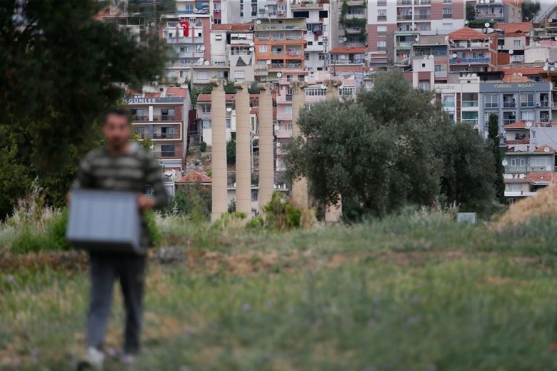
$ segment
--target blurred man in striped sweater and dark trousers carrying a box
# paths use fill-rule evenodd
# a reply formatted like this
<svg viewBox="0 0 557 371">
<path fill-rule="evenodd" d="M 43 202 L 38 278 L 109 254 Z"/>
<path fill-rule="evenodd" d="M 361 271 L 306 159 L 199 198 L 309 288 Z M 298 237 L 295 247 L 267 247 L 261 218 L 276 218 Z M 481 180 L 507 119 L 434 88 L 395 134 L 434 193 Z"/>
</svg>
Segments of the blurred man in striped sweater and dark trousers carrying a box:
<svg viewBox="0 0 557 371">
<path fill-rule="evenodd" d="M 134 191 L 138 195 L 138 208 L 142 211 L 164 205 L 168 196 L 159 161 L 137 143 L 130 143 L 128 112 L 113 109 L 106 113 L 102 132 L 106 146 L 85 156 L 74 188 Z M 153 188 L 153 197 L 144 194 L 146 185 Z M 150 241 L 144 219 L 141 229 L 141 244 L 147 248 Z M 135 253 L 89 253 L 91 298 L 87 315 L 87 349 L 80 369 L 100 369 L 103 365 L 102 345 L 116 278 L 120 281 L 126 310 L 123 360 L 134 360 L 139 352 L 145 265 L 145 256 Z"/>
</svg>

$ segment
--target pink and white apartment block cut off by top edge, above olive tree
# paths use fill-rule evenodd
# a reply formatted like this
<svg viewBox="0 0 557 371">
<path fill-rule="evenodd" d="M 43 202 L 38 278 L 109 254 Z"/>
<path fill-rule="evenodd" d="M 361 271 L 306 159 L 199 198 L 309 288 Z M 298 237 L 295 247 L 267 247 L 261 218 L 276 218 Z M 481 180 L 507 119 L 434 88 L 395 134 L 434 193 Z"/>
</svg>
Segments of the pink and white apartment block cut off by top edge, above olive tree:
<svg viewBox="0 0 557 371">
<path fill-rule="evenodd" d="M 395 2 L 396 1 L 396 2 Z M 394 31 L 448 34 L 464 26 L 464 0 L 371 0 L 367 2 L 369 63 L 386 66 L 388 36 Z"/>
</svg>

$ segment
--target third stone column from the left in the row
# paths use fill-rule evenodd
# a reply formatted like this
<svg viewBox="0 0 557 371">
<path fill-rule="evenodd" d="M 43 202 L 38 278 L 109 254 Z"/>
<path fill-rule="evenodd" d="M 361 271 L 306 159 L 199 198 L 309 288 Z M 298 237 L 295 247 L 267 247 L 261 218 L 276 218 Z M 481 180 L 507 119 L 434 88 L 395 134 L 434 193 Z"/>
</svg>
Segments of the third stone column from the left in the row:
<svg viewBox="0 0 557 371">
<path fill-rule="evenodd" d="M 273 195 L 273 83 L 259 83 L 259 210 L 269 203 Z"/>
</svg>

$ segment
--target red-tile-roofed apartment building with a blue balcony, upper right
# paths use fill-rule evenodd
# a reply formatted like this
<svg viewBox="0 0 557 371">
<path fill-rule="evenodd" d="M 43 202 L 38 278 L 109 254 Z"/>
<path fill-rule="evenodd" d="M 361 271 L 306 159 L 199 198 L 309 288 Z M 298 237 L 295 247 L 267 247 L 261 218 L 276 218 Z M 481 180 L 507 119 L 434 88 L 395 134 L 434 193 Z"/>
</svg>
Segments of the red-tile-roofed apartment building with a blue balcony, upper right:
<svg viewBox="0 0 557 371">
<path fill-rule="evenodd" d="M 497 65 L 497 34 L 463 27 L 448 36 L 449 74 L 453 81 L 467 73 L 493 71 Z"/>
</svg>

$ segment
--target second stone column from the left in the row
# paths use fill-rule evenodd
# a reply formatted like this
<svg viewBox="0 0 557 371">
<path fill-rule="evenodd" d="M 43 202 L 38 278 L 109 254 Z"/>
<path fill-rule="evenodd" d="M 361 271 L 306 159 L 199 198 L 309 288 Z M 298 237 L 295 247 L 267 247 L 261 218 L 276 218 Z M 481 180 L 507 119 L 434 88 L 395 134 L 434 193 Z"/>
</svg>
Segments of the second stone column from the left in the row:
<svg viewBox="0 0 557 371">
<path fill-rule="evenodd" d="M 236 87 L 236 211 L 251 218 L 251 128 L 249 83 Z"/>
</svg>

